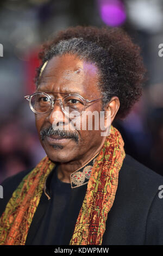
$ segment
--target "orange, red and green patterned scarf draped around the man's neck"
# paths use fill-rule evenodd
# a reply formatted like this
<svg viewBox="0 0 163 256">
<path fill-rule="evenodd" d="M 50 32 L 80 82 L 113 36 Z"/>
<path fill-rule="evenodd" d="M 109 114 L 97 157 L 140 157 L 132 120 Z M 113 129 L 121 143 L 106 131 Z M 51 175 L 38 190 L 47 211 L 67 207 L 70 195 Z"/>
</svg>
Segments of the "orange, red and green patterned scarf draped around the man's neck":
<svg viewBox="0 0 163 256">
<path fill-rule="evenodd" d="M 125 157 L 121 133 L 111 125 L 93 165 L 70 245 L 101 245 Z M 43 187 L 55 164 L 46 156 L 18 185 L 0 218 L 0 245 L 25 245 Z"/>
</svg>

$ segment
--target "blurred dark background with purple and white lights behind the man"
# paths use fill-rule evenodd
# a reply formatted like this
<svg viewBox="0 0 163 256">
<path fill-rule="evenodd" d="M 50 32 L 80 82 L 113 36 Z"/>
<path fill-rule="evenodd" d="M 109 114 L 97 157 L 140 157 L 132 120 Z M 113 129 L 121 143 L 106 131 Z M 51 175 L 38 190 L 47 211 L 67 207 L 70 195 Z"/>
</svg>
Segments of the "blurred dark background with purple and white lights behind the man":
<svg viewBox="0 0 163 256">
<path fill-rule="evenodd" d="M 133 111 L 114 125 L 126 153 L 163 175 L 163 0 L 1 0 L 0 183 L 45 156 L 23 96 L 35 90 L 40 45 L 76 25 L 121 26 L 140 45 L 148 81 Z"/>
</svg>

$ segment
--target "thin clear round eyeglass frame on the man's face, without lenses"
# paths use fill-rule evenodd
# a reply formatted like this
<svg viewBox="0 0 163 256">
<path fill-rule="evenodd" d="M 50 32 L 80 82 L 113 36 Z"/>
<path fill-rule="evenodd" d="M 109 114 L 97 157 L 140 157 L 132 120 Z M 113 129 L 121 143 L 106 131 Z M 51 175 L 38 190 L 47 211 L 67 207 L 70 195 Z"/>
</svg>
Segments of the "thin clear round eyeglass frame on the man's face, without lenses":
<svg viewBox="0 0 163 256">
<path fill-rule="evenodd" d="M 54 108 L 54 103 L 55 103 L 55 101 L 56 101 L 56 100 L 59 100 L 59 101 L 60 101 L 59 103 L 60 103 L 62 112 L 64 112 L 66 115 L 68 115 L 68 113 L 65 112 L 65 109 L 64 109 L 64 106 L 63 106 L 63 102 L 62 102 L 62 101 L 64 101 L 64 100 L 66 99 L 66 97 L 68 97 L 68 96 L 78 96 L 78 97 L 80 97 L 80 98 L 83 100 L 83 102 L 84 102 L 84 109 L 83 109 L 81 112 L 79 112 L 80 115 L 81 115 L 82 112 L 85 111 L 85 109 L 86 109 L 87 107 L 90 107 L 93 103 L 98 102 L 99 100 L 103 99 L 103 98 L 101 97 L 101 98 L 96 99 L 96 100 L 87 100 L 87 99 L 84 99 L 84 97 L 82 97 L 81 95 L 72 94 L 72 93 L 59 93 L 59 94 L 68 94 L 68 95 L 65 96 L 63 99 L 52 99 L 52 97 L 51 97 L 50 95 L 48 95 L 48 93 L 57 93 L 57 92 L 35 92 L 35 93 L 33 93 L 32 95 L 24 96 L 24 98 L 29 101 L 30 109 L 31 109 L 35 114 L 45 114 L 45 113 L 48 113 L 48 112 L 50 111 L 50 109 L 52 110 L 52 109 Z M 43 94 L 43 95 L 45 95 L 45 96 L 47 96 L 47 97 L 49 98 L 49 100 L 51 101 L 51 107 L 49 107 L 48 111 L 39 113 L 39 112 L 37 112 L 37 111 L 34 110 L 32 104 L 31 104 L 31 99 L 32 99 L 32 96 L 35 95 L 35 94 Z M 94 101 L 94 102 L 93 102 L 93 101 Z M 87 106 L 87 103 L 90 103 L 90 102 L 93 102 L 93 103 L 92 103 L 91 105 Z"/>
</svg>

